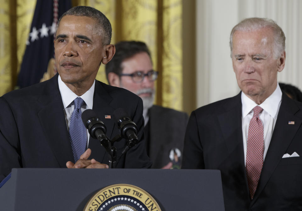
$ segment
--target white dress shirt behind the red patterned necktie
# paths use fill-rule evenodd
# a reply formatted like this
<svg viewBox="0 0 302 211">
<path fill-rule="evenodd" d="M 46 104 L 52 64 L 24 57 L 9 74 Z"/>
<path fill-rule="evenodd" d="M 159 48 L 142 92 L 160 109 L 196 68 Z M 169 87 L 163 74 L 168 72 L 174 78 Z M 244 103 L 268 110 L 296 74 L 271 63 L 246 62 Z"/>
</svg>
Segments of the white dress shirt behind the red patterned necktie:
<svg viewBox="0 0 302 211">
<path fill-rule="evenodd" d="M 263 160 L 265 159 L 267 149 L 271 142 L 271 136 L 273 134 L 277 115 L 281 105 L 282 91 L 279 84 L 276 90 L 261 103 L 260 106 L 263 111 L 259 114 L 259 118 L 263 125 L 263 136 L 264 136 L 264 153 Z M 244 150 L 244 163 L 246 163 L 246 151 L 247 151 L 247 141 L 248 141 L 248 131 L 249 122 L 253 117 L 253 108 L 257 106 L 252 99 L 247 97 L 243 92 L 241 92 L 241 102 L 242 102 L 242 135 L 243 135 L 243 150 Z"/>
</svg>

